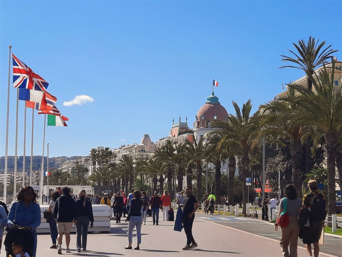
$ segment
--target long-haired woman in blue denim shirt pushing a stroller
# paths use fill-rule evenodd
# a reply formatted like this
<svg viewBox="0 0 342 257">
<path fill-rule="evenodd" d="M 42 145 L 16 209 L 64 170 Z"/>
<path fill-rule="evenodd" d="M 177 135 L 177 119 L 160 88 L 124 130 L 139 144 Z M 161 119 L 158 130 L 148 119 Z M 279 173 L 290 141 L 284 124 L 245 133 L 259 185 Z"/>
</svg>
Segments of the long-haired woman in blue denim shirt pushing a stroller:
<svg viewBox="0 0 342 257">
<path fill-rule="evenodd" d="M 34 238 L 33 257 L 37 252 L 37 231 L 40 226 L 41 214 L 39 204 L 36 203 L 36 193 L 30 186 L 24 186 L 18 194 L 17 200 L 12 204 L 8 215 L 10 228 L 24 227 L 31 231 Z"/>
</svg>

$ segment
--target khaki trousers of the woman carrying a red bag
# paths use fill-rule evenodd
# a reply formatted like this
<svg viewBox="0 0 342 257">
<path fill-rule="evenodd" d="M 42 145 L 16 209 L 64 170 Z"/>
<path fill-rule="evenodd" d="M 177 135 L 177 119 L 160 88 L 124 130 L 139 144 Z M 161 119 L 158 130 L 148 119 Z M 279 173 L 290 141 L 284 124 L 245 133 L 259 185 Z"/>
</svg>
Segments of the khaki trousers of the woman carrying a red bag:
<svg viewBox="0 0 342 257">
<path fill-rule="evenodd" d="M 294 217 L 290 217 L 286 228 L 281 228 L 280 248 L 283 257 L 297 257 L 299 231 L 299 220 Z"/>
</svg>

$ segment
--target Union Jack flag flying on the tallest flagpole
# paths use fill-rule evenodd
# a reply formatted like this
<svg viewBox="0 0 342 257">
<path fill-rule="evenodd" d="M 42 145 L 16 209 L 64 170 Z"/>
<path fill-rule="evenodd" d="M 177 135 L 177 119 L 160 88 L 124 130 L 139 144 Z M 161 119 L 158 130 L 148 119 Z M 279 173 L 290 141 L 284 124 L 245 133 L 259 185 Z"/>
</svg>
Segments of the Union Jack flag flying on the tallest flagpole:
<svg viewBox="0 0 342 257">
<path fill-rule="evenodd" d="M 24 62 L 12 54 L 13 60 L 13 87 L 34 89 L 45 92 L 49 83 L 31 70 Z"/>
</svg>

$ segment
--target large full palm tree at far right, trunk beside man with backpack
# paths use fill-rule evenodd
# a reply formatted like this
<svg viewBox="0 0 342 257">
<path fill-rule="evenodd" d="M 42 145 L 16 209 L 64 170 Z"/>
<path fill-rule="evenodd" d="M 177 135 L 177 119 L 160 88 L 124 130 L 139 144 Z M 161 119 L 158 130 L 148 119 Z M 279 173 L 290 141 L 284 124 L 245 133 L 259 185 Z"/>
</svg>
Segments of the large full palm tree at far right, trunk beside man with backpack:
<svg viewBox="0 0 342 257">
<path fill-rule="evenodd" d="M 332 61 L 332 67 L 335 67 L 335 61 Z M 328 212 L 331 215 L 336 213 L 335 159 L 337 145 L 341 142 L 342 85 L 335 88 L 333 83 L 334 69 L 332 68 L 331 74 L 329 74 L 325 65 L 319 71 L 317 80 L 310 73 L 307 73 L 307 76 L 312 80 L 315 90 L 312 91 L 301 85 L 291 84 L 289 87 L 297 90 L 299 94 L 284 97 L 284 100 L 303 107 L 303 109 L 296 111 L 295 122 L 297 125 L 305 124 L 311 127 L 310 134 L 313 136 L 314 145 L 318 145 L 320 137 L 324 135 L 328 168 Z"/>
</svg>

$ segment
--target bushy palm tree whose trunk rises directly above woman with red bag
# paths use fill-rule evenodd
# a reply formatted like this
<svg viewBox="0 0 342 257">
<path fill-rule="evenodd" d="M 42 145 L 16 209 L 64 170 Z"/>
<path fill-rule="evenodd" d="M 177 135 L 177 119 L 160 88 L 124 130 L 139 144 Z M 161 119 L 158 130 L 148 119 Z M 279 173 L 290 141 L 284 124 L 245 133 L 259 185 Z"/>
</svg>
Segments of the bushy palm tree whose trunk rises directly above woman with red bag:
<svg viewBox="0 0 342 257">
<path fill-rule="evenodd" d="M 289 89 L 288 97 L 294 97 L 295 91 Z M 273 138 L 281 137 L 289 140 L 292 159 L 292 181 L 297 189 L 297 194 L 302 197 L 303 184 L 303 142 L 306 138 L 303 126 L 293 126 L 295 115 L 301 109 L 295 103 L 286 100 L 274 99 L 260 106 L 261 136 L 272 135 Z M 272 137 L 270 138 L 272 139 Z M 277 141 L 277 140 L 276 140 Z"/>
</svg>

